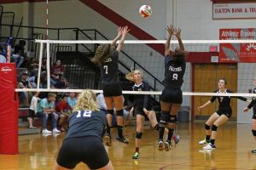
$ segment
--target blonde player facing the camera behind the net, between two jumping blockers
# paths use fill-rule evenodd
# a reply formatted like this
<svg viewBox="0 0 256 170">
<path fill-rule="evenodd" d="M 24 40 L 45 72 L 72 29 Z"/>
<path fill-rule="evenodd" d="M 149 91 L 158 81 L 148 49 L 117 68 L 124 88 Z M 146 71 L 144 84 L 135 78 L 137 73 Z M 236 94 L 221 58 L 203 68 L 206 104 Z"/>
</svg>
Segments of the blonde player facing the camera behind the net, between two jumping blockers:
<svg viewBox="0 0 256 170">
<path fill-rule="evenodd" d="M 130 76 L 131 75 L 131 76 Z M 143 72 L 140 70 L 131 71 L 131 74 L 128 73 L 126 78 L 132 82 L 135 82 L 132 87 L 133 91 L 150 91 L 148 82 L 143 81 Z M 155 112 L 152 108 L 150 96 L 147 94 L 137 94 L 134 95 L 133 104 L 131 107 L 130 114 L 135 113 L 137 120 L 137 133 L 135 139 L 135 153 L 132 156 L 133 159 L 137 159 L 139 156 L 139 147 L 141 139 L 143 136 L 143 124 L 145 119 L 148 118 L 151 126 L 155 130 L 159 130 L 159 123 L 157 122 Z M 166 129 L 167 133 L 168 130 Z M 177 144 L 179 141 L 179 136 L 175 135 L 172 138 Z"/>
</svg>

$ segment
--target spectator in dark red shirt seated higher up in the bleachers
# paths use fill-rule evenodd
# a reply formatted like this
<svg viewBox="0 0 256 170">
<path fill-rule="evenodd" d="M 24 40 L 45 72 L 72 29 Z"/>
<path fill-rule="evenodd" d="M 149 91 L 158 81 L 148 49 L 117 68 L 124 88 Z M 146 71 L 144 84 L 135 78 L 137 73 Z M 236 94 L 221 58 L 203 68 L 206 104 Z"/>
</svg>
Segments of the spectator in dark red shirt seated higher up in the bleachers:
<svg viewBox="0 0 256 170">
<path fill-rule="evenodd" d="M 55 83 L 59 81 L 61 76 L 63 75 L 64 75 L 64 68 L 61 65 L 61 60 L 58 59 L 56 60 L 55 65 L 50 69 L 51 84 L 55 85 Z"/>
</svg>

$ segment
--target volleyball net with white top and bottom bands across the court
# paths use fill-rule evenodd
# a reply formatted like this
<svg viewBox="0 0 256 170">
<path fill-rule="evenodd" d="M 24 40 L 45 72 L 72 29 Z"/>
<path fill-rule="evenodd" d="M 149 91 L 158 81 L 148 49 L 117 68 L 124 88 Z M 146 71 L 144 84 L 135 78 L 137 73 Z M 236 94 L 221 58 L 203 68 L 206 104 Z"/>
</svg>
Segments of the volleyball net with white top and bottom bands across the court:
<svg viewBox="0 0 256 170">
<path fill-rule="evenodd" d="M 98 76 L 99 68 L 94 67 L 81 69 L 83 66 L 91 65 L 90 61 L 84 65 L 80 60 L 89 59 L 96 51 L 96 47 L 102 43 L 111 41 L 62 41 L 62 40 L 35 40 L 39 44 L 38 53 L 38 79 L 35 81 L 36 88 L 16 89 L 19 91 L 42 91 L 42 92 L 81 92 L 84 88 L 91 88 L 96 93 L 101 93 L 101 80 Z M 119 43 L 119 42 L 117 42 Z M 151 91 L 133 92 L 125 90 L 124 94 L 160 94 L 164 79 L 164 44 L 165 40 L 138 41 L 125 40 L 122 52 L 119 54 L 120 74 L 127 74 L 131 70 L 143 71 L 143 80 L 149 83 Z M 252 97 L 253 78 L 256 76 L 256 40 L 183 40 L 185 50 L 189 53 L 187 57 L 186 73 L 183 77 L 183 95 L 212 96 L 218 88 L 218 79 L 225 78 L 228 81 L 228 88 L 235 91 L 235 94 L 221 94 L 229 96 Z M 51 50 L 52 46 L 70 47 L 69 51 L 59 53 L 58 50 Z M 178 47 L 176 40 L 171 41 L 171 49 Z M 79 52 L 71 53 L 70 52 Z M 79 56 L 78 56 L 79 55 Z M 65 58 L 67 56 L 67 59 Z M 40 77 L 42 77 L 41 65 L 43 58 L 47 58 L 47 86 L 40 88 Z M 82 58 L 82 59 L 81 59 Z M 67 69 L 65 74 L 73 74 L 72 80 L 67 78 L 72 88 L 57 89 L 51 88 L 50 68 L 56 59 L 65 61 L 62 65 Z M 80 59 L 80 60 L 79 60 Z M 68 65 L 73 67 L 68 69 Z M 76 69 L 76 70 L 75 70 Z M 75 70 L 75 71 L 74 71 Z M 83 74 L 78 74 L 82 71 Z M 95 72 L 94 72 L 95 71 Z M 94 73 L 93 73 L 94 72 Z M 80 72 L 81 73 L 81 72 Z M 88 76 L 90 75 L 90 76 Z M 79 77 L 81 76 L 81 77 Z M 97 77 L 97 79 L 96 79 Z M 78 82 L 79 80 L 79 82 Z M 76 83 L 73 83 L 76 82 Z M 96 86 L 88 86 L 83 82 L 93 82 Z"/>
</svg>

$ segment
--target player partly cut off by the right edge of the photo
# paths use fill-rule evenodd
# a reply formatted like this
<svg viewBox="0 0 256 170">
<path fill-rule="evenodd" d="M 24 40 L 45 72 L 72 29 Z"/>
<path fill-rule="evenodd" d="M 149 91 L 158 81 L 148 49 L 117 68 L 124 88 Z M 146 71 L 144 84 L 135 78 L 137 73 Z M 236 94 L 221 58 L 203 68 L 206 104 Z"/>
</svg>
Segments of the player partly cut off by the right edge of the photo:
<svg viewBox="0 0 256 170">
<path fill-rule="evenodd" d="M 256 87 L 256 77 L 254 78 L 254 86 Z M 256 94 L 256 88 L 253 89 L 253 94 Z M 253 97 L 251 103 L 247 105 L 247 108 L 244 108 L 243 111 L 247 112 L 253 107 L 253 118 L 252 118 L 252 133 L 253 137 L 256 140 L 256 96 Z M 256 154 L 256 150 L 252 150 L 253 154 Z"/>
</svg>

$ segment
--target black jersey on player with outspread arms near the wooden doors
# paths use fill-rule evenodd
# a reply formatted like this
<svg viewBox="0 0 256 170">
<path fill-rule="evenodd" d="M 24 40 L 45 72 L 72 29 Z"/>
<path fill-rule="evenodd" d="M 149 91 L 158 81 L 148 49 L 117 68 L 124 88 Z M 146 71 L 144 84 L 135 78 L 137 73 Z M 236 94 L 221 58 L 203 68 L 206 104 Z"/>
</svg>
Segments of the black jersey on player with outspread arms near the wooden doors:
<svg viewBox="0 0 256 170">
<path fill-rule="evenodd" d="M 219 90 L 215 90 L 214 93 L 220 94 L 221 92 Z M 230 89 L 226 89 L 224 91 L 224 94 L 232 94 Z M 247 101 L 247 98 L 241 97 L 241 96 L 212 96 L 212 99 L 210 101 L 213 103 L 215 99 L 218 99 L 218 110 L 221 111 L 232 111 L 231 106 L 230 106 L 230 99 L 231 98 L 236 98 L 236 99 L 241 99 L 243 101 Z"/>
</svg>

